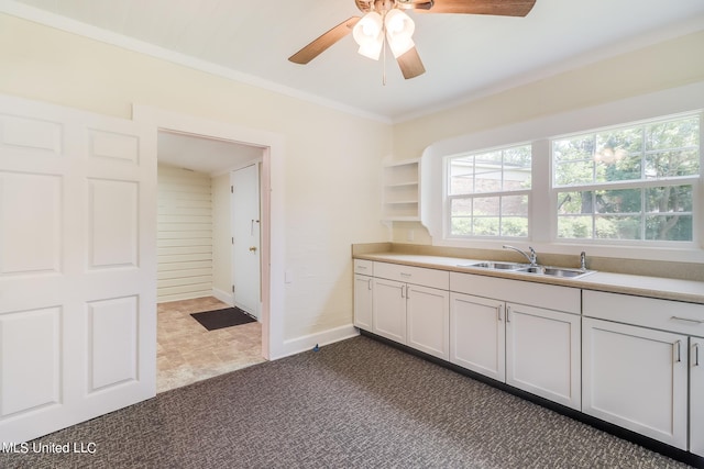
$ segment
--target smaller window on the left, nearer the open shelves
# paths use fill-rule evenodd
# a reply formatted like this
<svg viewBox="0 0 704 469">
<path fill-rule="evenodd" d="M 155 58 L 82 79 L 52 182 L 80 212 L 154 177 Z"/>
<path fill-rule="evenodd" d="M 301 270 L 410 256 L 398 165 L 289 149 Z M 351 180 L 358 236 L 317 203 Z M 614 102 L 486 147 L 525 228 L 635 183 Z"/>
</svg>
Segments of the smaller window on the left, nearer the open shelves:
<svg viewBox="0 0 704 469">
<path fill-rule="evenodd" d="M 528 237 L 531 146 L 447 160 L 450 237 Z"/>
</svg>

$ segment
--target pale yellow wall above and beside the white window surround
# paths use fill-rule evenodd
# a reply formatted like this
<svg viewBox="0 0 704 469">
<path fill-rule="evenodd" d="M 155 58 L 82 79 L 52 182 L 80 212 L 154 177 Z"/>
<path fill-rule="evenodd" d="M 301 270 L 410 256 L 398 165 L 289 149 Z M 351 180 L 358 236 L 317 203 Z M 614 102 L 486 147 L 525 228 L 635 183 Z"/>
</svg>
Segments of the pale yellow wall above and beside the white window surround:
<svg viewBox="0 0 704 469">
<path fill-rule="evenodd" d="M 703 51 L 700 31 L 398 123 L 393 130 L 394 156 L 416 158 L 446 138 L 704 81 Z M 432 243 L 420 223 L 407 222 L 394 223 L 392 239 Z"/>
</svg>

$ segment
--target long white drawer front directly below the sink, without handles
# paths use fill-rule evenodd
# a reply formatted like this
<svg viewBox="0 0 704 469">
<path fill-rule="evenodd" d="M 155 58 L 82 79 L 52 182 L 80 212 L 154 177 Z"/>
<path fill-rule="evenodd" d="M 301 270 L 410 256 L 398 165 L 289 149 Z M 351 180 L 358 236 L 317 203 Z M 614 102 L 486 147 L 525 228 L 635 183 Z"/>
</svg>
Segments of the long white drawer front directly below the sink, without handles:
<svg viewBox="0 0 704 469">
<path fill-rule="evenodd" d="M 450 290 L 458 293 L 580 314 L 580 289 L 530 281 L 451 272 Z"/>
</svg>

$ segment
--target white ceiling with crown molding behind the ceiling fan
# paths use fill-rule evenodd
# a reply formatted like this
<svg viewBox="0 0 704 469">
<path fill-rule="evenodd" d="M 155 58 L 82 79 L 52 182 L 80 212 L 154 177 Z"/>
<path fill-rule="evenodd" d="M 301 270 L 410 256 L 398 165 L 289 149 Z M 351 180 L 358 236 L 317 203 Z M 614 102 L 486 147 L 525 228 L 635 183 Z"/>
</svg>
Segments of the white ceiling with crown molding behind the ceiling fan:
<svg viewBox="0 0 704 469">
<path fill-rule="evenodd" d="M 354 0 L 0 0 L 0 11 L 139 49 L 123 36 L 136 38 L 160 46 L 154 55 L 391 122 L 704 29 L 703 0 L 537 0 L 526 18 L 411 13 L 427 72 L 404 80 L 388 62 L 383 86 L 383 64 L 358 55 L 351 35 L 308 65 L 287 60 L 359 15 Z"/>
</svg>

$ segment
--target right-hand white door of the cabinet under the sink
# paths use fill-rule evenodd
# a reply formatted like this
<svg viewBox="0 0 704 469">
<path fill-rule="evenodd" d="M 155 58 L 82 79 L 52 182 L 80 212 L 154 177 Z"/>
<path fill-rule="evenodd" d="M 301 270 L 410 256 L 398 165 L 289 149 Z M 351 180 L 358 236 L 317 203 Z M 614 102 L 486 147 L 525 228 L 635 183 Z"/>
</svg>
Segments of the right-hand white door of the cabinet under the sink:
<svg viewBox="0 0 704 469">
<path fill-rule="evenodd" d="M 506 382 L 581 409 L 580 316 L 506 303 Z"/>
</svg>

